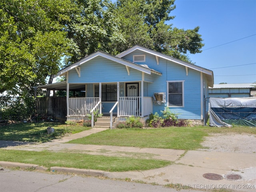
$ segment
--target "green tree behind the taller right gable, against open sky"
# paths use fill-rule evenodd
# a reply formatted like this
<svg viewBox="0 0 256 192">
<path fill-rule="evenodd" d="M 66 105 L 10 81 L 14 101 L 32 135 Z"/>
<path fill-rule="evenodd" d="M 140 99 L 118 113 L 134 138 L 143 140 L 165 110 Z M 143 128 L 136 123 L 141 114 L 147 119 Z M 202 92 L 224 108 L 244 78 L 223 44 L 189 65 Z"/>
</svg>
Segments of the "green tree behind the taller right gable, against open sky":
<svg viewBox="0 0 256 192">
<path fill-rule="evenodd" d="M 125 44 L 118 46 L 122 52 L 140 44 L 158 52 L 190 62 L 187 52 L 201 52 L 202 38 L 199 27 L 192 30 L 172 28 L 170 12 L 175 9 L 174 0 L 118 0 L 116 17 L 119 19 Z"/>
</svg>

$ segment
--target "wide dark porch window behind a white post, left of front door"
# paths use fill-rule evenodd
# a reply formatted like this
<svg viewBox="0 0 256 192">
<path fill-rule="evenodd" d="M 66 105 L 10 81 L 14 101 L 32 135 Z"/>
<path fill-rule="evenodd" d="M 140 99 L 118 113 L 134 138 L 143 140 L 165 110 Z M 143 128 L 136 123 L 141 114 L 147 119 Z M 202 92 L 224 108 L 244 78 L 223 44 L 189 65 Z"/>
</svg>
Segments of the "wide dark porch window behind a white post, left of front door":
<svg viewBox="0 0 256 192">
<path fill-rule="evenodd" d="M 99 97 L 99 85 L 94 86 L 94 95 Z M 117 85 L 116 84 L 102 84 L 101 85 L 101 100 L 102 101 L 117 101 Z"/>
</svg>

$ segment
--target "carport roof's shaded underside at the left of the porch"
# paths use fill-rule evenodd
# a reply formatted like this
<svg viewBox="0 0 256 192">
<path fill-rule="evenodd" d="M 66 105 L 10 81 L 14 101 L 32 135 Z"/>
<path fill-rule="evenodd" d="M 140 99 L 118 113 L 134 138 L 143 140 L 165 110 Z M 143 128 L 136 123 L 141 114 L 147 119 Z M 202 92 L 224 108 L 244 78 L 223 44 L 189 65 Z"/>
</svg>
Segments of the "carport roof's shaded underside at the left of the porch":
<svg viewBox="0 0 256 192">
<path fill-rule="evenodd" d="M 40 89 L 50 89 L 50 90 L 67 90 L 67 82 L 62 81 L 58 83 L 46 84 L 36 86 Z M 84 84 L 69 84 L 69 90 L 85 90 Z"/>
</svg>

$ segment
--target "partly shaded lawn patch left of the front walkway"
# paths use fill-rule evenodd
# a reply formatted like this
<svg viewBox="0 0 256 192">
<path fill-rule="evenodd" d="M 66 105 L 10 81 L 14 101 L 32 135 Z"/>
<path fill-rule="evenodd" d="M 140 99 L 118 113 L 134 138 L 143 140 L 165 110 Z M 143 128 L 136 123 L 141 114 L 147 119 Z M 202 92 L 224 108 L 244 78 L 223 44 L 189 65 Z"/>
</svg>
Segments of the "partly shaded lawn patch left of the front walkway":
<svg viewBox="0 0 256 192">
<path fill-rule="evenodd" d="M 54 134 L 47 134 L 47 127 L 55 129 Z M 48 142 L 64 134 L 74 134 L 90 128 L 68 126 L 56 122 L 19 123 L 0 127 L 0 140 L 21 142 Z"/>
</svg>

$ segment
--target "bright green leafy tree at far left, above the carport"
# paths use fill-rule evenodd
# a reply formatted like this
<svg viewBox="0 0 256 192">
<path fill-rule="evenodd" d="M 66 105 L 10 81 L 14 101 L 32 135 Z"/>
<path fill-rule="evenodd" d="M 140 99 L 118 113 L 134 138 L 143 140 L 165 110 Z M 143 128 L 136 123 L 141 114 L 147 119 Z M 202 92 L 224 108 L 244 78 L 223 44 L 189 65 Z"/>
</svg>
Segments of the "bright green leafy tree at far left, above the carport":
<svg viewBox="0 0 256 192">
<path fill-rule="evenodd" d="M 26 92 L 44 84 L 74 51 L 65 24 L 70 0 L 0 0 L 0 92 Z"/>
</svg>

